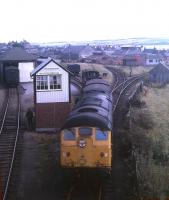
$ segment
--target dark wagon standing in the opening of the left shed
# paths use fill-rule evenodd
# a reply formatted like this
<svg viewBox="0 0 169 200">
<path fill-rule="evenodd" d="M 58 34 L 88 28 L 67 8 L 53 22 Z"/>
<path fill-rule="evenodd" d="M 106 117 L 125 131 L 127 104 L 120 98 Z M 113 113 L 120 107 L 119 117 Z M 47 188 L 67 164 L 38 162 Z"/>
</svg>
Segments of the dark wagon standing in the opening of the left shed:
<svg viewBox="0 0 169 200">
<path fill-rule="evenodd" d="M 16 87 L 19 84 L 19 69 L 16 66 L 5 67 L 5 82 L 9 87 Z"/>
</svg>

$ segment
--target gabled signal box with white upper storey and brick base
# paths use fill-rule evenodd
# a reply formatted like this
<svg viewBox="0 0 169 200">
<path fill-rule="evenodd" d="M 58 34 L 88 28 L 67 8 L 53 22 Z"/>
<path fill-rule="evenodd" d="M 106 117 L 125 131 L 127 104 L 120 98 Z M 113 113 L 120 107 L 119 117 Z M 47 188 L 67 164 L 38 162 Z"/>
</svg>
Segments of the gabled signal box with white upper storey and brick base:
<svg viewBox="0 0 169 200">
<path fill-rule="evenodd" d="M 62 127 L 71 109 L 71 95 L 77 96 L 80 91 L 80 86 L 75 82 L 70 83 L 71 75 L 52 58 L 31 72 L 34 83 L 36 131 L 56 131 Z"/>
</svg>

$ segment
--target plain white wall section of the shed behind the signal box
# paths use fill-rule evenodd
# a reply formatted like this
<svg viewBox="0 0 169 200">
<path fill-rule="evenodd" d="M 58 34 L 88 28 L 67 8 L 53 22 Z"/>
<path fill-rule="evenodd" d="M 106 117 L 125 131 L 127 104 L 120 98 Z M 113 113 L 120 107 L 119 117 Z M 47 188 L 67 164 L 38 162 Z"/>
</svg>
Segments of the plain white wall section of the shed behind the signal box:
<svg viewBox="0 0 169 200">
<path fill-rule="evenodd" d="M 30 73 L 33 69 L 34 69 L 34 63 L 33 62 L 21 62 L 21 63 L 19 63 L 19 81 L 21 83 L 32 82 L 33 79 L 30 77 Z"/>
</svg>

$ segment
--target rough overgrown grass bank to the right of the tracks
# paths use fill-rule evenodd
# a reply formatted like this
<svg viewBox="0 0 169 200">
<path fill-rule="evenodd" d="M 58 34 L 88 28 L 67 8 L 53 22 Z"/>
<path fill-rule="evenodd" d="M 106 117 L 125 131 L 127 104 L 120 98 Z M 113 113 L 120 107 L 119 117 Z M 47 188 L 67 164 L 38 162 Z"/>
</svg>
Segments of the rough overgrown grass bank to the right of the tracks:
<svg viewBox="0 0 169 200">
<path fill-rule="evenodd" d="M 169 197 L 169 86 L 149 88 L 144 107 L 132 108 L 131 131 L 142 198 Z"/>
</svg>

